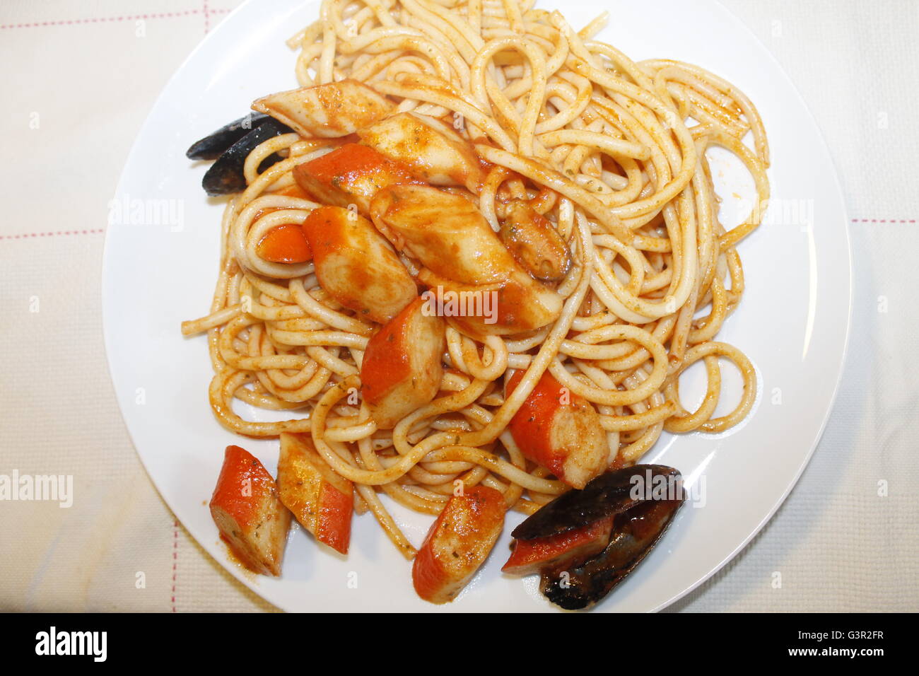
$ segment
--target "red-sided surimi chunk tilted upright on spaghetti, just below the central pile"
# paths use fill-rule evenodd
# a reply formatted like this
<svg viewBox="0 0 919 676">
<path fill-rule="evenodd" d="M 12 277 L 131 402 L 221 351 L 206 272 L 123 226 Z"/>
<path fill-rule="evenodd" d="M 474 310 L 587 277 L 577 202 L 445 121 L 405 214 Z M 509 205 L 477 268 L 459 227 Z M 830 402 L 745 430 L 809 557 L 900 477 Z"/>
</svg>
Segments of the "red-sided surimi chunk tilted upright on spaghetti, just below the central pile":
<svg viewBox="0 0 919 676">
<path fill-rule="evenodd" d="M 437 395 L 444 329 L 444 320 L 415 298 L 370 338 L 360 367 L 361 395 L 380 430 L 390 430 Z"/>
</svg>

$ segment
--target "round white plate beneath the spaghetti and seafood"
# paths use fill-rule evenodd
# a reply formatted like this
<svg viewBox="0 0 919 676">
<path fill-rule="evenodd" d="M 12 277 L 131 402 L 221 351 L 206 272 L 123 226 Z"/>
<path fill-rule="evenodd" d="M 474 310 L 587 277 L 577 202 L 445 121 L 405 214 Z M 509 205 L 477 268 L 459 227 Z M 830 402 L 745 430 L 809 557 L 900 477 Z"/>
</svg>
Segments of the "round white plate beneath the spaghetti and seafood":
<svg viewBox="0 0 919 676">
<path fill-rule="evenodd" d="M 599 11 L 587 0 L 539 5 L 563 6 L 578 28 Z M 714 2 L 662 0 L 652 12 L 640 6 L 608 3 L 612 19 L 600 38 L 633 59 L 698 63 L 743 88 L 766 123 L 774 200 L 766 224 L 741 245 L 747 291 L 719 336 L 754 361 L 760 392 L 753 415 L 719 436 L 665 436 L 645 457 L 674 465 L 697 487 L 704 483 L 706 504 L 681 510 L 641 567 L 599 606 L 603 611 L 651 611 L 674 602 L 736 555 L 777 510 L 807 464 L 833 404 L 851 300 L 847 219 L 834 167 L 789 78 L 750 31 Z M 209 307 L 222 208 L 221 201 L 205 198 L 200 189 L 205 167 L 192 166 L 185 150 L 243 115 L 255 97 L 295 86 L 294 53 L 284 40 L 312 21 L 318 7 L 295 0 L 239 7 L 179 68 L 134 143 L 116 196 L 128 210 L 108 228 L 103 276 L 108 361 L 131 438 L 188 531 L 236 578 L 280 608 L 550 610 L 535 578 L 521 581 L 500 572 L 511 524 L 460 598 L 436 607 L 415 596 L 410 565 L 369 514 L 356 519 L 346 558 L 321 551 L 297 529 L 281 579 L 255 578 L 229 561 L 210 520 L 206 502 L 223 448 L 240 443 L 274 472 L 278 441 L 241 439 L 221 428 L 207 400 L 205 339 L 179 333 L 183 319 Z M 725 196 L 722 215 L 730 222 L 738 210 L 732 193 L 749 199 L 752 191 L 749 179 L 723 156 L 715 157 L 716 178 Z M 134 200 L 146 215 L 131 209 Z M 159 217 L 157 207 L 166 207 Z M 702 369 L 687 376 L 688 405 L 701 391 Z M 722 400 L 732 405 L 739 379 L 726 380 L 729 391 Z M 395 511 L 410 539 L 420 544 L 430 518 Z M 516 525 L 519 516 L 510 519 Z"/>
</svg>

